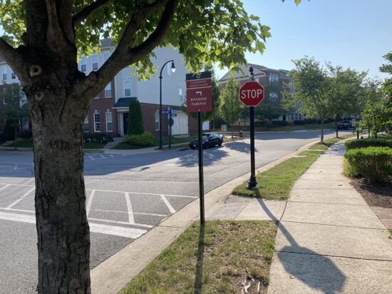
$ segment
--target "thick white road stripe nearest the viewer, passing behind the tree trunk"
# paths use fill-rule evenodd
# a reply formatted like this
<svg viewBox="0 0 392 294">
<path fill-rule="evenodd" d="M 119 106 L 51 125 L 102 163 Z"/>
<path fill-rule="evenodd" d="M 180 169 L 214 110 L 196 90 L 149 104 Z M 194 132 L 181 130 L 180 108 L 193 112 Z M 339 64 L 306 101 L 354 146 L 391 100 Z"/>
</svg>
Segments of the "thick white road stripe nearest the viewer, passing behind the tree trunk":
<svg viewBox="0 0 392 294">
<path fill-rule="evenodd" d="M 0 220 L 12 220 L 19 223 L 36 223 L 36 216 L 27 216 L 19 213 L 0 212 Z M 126 228 L 114 225 L 103 225 L 100 223 L 88 223 L 88 225 L 90 226 L 90 231 L 93 233 L 118 235 L 120 237 L 132 239 L 139 238 L 140 235 L 143 235 L 145 232 L 147 232 L 147 230 L 143 230 L 140 228 Z"/>
</svg>

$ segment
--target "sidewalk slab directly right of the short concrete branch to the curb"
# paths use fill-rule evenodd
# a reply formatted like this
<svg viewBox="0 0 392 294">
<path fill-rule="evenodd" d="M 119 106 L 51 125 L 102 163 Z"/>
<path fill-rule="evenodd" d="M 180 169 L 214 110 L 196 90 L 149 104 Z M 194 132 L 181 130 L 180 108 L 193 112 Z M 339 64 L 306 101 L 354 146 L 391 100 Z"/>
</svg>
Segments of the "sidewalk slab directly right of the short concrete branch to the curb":
<svg viewBox="0 0 392 294">
<path fill-rule="evenodd" d="M 282 221 L 384 229 L 368 206 L 287 202 Z"/>
</svg>

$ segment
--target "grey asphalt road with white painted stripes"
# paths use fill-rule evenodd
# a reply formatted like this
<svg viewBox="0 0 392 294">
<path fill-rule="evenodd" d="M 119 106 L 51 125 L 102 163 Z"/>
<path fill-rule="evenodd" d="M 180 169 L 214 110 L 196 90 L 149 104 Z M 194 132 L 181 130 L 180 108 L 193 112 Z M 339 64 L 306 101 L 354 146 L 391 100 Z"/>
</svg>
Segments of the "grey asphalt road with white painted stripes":
<svg viewBox="0 0 392 294">
<path fill-rule="evenodd" d="M 326 138 L 334 136 L 326 131 Z M 316 141 L 319 131 L 257 133 L 256 168 Z M 249 140 L 204 151 L 205 193 L 249 172 Z M 86 154 L 91 267 L 198 197 L 197 151 Z M 34 293 L 33 157 L 0 153 L 0 293 Z"/>
</svg>

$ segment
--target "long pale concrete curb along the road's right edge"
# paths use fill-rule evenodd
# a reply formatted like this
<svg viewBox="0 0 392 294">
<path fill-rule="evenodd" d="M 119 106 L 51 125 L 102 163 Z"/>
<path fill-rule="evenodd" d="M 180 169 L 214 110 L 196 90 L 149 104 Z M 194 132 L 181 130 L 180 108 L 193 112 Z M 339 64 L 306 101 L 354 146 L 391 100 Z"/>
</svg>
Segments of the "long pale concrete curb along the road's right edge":
<svg viewBox="0 0 392 294">
<path fill-rule="evenodd" d="M 319 141 L 319 140 L 318 140 Z M 256 172 L 267 171 L 282 161 L 295 156 L 318 141 L 308 143 L 293 153 L 257 168 Z M 215 206 L 225 201 L 233 188 L 249 179 L 250 172 L 245 173 L 224 185 L 205 194 L 205 214 L 211 213 Z M 122 250 L 91 270 L 91 293 L 118 293 L 135 278 L 151 261 L 170 245 L 191 223 L 199 219 L 199 199 L 163 220 L 155 228 L 130 243 Z"/>
</svg>

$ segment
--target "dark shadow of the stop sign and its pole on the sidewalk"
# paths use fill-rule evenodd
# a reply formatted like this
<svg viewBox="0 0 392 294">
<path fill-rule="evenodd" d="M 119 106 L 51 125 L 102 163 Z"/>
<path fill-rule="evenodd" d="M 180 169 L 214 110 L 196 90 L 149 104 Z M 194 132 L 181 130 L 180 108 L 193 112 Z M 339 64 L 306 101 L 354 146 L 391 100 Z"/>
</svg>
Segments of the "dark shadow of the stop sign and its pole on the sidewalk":
<svg viewBox="0 0 392 294">
<path fill-rule="evenodd" d="M 277 220 L 261 198 L 258 198 L 257 201 L 269 218 Z M 296 243 L 296 240 L 280 221 L 279 230 L 290 243 L 289 246 L 285 246 L 277 252 L 277 257 L 281 260 L 287 273 L 322 293 L 341 293 L 346 283 L 346 276 L 341 273 L 341 270 L 326 256 L 319 255 L 319 253 Z M 287 258 L 287 253 L 295 253 L 295 255 L 292 254 L 290 258 Z"/>
</svg>

